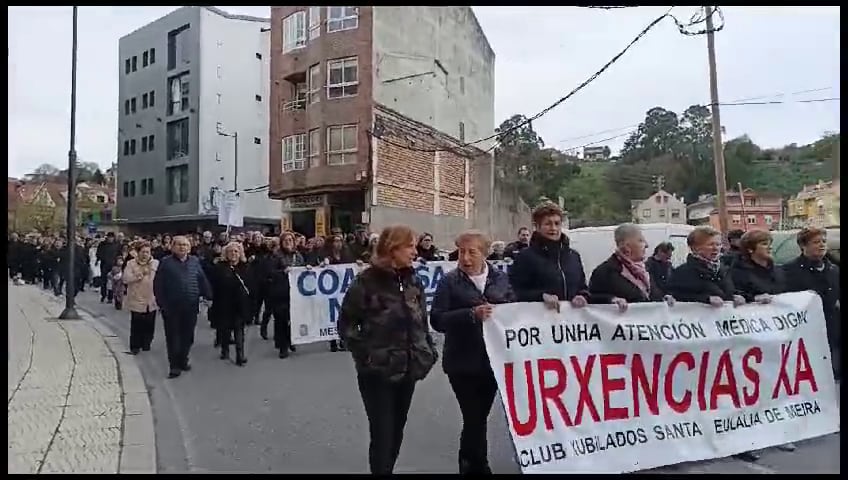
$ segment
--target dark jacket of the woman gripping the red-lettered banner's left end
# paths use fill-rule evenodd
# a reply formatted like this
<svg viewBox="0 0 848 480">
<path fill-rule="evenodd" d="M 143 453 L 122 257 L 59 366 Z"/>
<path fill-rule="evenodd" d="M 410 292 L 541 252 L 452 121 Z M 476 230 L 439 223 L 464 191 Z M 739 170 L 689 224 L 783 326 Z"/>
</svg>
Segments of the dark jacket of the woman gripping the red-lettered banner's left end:
<svg viewBox="0 0 848 480">
<path fill-rule="evenodd" d="M 507 274 L 489 265 L 484 292 L 460 269 L 445 274 L 436 287 L 430 308 L 433 330 L 445 334 L 442 368 L 448 375 L 492 374 L 483 324 L 474 317 L 472 308 L 485 303 L 510 303 L 515 294 Z"/>
</svg>

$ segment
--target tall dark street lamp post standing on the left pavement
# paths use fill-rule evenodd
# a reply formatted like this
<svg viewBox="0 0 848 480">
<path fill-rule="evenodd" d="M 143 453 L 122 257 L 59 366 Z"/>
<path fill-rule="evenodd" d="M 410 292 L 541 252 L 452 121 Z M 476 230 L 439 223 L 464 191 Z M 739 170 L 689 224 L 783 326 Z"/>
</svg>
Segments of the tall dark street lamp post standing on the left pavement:
<svg viewBox="0 0 848 480">
<path fill-rule="evenodd" d="M 68 218 L 66 234 L 68 243 L 68 271 L 65 282 L 65 309 L 59 315 L 62 320 L 78 320 L 79 314 L 74 305 L 77 294 L 76 272 L 76 226 L 77 226 L 77 7 L 73 7 L 73 28 L 71 39 L 71 145 L 68 150 Z"/>
</svg>

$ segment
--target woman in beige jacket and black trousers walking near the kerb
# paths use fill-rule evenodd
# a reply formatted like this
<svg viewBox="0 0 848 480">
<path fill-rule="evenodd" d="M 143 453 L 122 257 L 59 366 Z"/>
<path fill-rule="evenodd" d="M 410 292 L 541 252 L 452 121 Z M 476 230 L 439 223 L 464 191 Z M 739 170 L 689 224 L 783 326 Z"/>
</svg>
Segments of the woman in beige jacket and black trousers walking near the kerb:
<svg viewBox="0 0 848 480">
<path fill-rule="evenodd" d="M 141 242 L 138 254 L 130 259 L 124 269 L 123 280 L 127 284 L 124 305 L 130 311 L 130 353 L 150 351 L 156 331 L 156 297 L 153 294 L 153 278 L 159 260 L 153 258 L 149 242 Z"/>
</svg>

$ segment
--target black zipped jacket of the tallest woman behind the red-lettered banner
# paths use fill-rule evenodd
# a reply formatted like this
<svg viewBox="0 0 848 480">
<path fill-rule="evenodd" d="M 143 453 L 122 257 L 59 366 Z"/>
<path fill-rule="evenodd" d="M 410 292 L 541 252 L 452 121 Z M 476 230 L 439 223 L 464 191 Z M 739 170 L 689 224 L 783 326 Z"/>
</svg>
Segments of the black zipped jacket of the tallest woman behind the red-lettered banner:
<svg viewBox="0 0 848 480">
<path fill-rule="evenodd" d="M 589 299 L 583 261 L 564 234 L 558 242 L 552 242 L 533 232 L 530 246 L 509 267 L 509 282 L 519 302 L 541 302 L 544 293 L 563 301 L 577 295 Z"/>
</svg>

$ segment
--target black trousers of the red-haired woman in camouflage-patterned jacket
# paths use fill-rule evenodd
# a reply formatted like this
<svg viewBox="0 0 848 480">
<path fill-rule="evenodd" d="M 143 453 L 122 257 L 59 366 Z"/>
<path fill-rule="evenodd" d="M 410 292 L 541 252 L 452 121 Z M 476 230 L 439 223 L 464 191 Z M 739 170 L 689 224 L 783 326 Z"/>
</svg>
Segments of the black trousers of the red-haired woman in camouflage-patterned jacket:
<svg viewBox="0 0 848 480">
<path fill-rule="evenodd" d="M 383 377 L 370 374 L 360 374 L 357 381 L 371 437 L 368 465 L 372 474 L 390 474 L 400 455 L 403 429 L 412 405 L 415 382 L 389 382 Z"/>
</svg>

